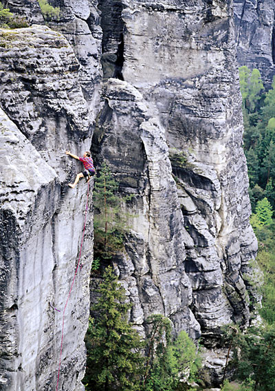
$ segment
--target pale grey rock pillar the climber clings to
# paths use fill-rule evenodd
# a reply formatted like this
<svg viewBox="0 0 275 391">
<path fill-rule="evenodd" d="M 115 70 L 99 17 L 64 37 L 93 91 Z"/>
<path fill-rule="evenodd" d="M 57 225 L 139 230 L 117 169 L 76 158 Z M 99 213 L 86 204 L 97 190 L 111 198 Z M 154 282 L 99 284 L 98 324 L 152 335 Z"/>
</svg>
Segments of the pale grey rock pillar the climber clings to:
<svg viewBox="0 0 275 391">
<path fill-rule="evenodd" d="M 76 169 L 65 149 L 89 149 L 89 109 L 61 34 L 0 29 L 0 58 L 0 388 L 54 390 L 87 191 L 84 183 L 68 191 Z M 64 315 L 60 390 L 78 388 L 85 371 L 90 218 Z"/>
</svg>

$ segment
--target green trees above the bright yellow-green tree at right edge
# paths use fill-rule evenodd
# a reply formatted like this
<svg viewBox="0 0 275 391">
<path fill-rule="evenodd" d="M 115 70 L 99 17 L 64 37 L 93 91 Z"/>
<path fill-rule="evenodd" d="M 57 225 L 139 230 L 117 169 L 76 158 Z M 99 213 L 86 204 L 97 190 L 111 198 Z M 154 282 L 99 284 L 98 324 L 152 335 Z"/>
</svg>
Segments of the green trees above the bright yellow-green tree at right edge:
<svg viewBox="0 0 275 391">
<path fill-rule="evenodd" d="M 275 78 L 264 92 L 259 70 L 243 66 L 239 74 L 252 211 L 255 213 L 256 203 L 265 197 L 275 210 Z"/>
</svg>

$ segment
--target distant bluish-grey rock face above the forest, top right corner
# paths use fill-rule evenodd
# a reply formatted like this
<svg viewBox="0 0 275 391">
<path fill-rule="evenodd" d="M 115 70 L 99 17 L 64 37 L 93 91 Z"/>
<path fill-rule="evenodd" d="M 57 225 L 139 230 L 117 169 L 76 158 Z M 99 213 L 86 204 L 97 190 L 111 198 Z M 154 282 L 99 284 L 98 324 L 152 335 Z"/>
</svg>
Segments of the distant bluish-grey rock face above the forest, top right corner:
<svg viewBox="0 0 275 391">
<path fill-rule="evenodd" d="M 239 65 L 260 70 L 266 85 L 275 74 L 274 0 L 234 0 Z"/>
</svg>

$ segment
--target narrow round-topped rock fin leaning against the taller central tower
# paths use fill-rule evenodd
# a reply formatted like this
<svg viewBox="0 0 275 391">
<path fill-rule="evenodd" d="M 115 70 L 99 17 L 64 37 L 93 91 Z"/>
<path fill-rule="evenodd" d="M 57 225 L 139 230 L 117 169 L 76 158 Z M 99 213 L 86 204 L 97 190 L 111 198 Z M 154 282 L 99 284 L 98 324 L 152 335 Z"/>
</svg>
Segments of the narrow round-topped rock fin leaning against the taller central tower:
<svg viewBox="0 0 275 391">
<path fill-rule="evenodd" d="M 175 318 L 177 332 L 184 329 L 198 337 L 199 325 L 188 308 L 192 290 L 184 272 L 184 242 L 189 235 L 164 128 L 129 83 L 110 78 L 104 96 L 107 103 L 93 147 L 100 147 L 98 159 L 109 162 L 121 192 L 134 196 L 126 205 L 133 215 L 126 254 L 115 260 L 134 304 L 132 320 L 142 326 L 152 313 L 162 313 Z"/>
</svg>

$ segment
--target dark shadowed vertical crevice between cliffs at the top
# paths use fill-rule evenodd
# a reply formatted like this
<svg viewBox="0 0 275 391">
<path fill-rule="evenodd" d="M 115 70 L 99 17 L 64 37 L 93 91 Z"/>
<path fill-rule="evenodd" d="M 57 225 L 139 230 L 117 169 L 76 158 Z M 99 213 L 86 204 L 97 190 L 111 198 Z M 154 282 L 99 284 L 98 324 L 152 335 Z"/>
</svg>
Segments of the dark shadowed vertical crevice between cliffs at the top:
<svg viewBox="0 0 275 391">
<path fill-rule="evenodd" d="M 124 8 L 120 0 L 98 1 L 103 32 L 101 63 L 104 78 L 115 77 L 123 80 L 125 23 L 122 19 L 122 11 Z"/>
</svg>

